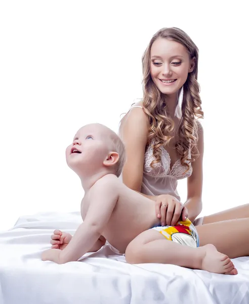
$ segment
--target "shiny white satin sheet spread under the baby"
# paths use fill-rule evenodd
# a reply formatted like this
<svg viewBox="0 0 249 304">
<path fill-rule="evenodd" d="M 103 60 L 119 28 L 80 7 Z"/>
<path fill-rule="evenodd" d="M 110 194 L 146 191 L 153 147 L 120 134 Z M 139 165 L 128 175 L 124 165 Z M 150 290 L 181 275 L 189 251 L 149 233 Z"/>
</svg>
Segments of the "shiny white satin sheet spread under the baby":
<svg viewBox="0 0 249 304">
<path fill-rule="evenodd" d="M 53 230 L 73 234 L 80 221 L 78 212 L 39 213 L 19 218 L 0 234 L 1 304 L 249 303 L 248 257 L 233 260 L 237 276 L 175 265 L 130 265 L 110 245 L 81 262 L 41 261 Z"/>
</svg>

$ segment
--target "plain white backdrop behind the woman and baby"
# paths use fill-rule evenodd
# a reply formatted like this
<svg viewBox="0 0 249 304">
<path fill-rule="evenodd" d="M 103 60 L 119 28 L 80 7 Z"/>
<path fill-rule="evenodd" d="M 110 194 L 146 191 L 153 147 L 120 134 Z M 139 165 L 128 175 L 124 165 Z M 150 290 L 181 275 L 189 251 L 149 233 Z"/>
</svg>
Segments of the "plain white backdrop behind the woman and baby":
<svg viewBox="0 0 249 304">
<path fill-rule="evenodd" d="M 142 96 L 142 54 L 169 26 L 200 53 L 202 213 L 248 203 L 247 18 L 242 1 L 1 1 L 0 230 L 20 215 L 79 210 L 84 193 L 65 148 L 87 123 L 117 131 Z M 184 201 L 185 181 L 179 191 Z"/>
</svg>

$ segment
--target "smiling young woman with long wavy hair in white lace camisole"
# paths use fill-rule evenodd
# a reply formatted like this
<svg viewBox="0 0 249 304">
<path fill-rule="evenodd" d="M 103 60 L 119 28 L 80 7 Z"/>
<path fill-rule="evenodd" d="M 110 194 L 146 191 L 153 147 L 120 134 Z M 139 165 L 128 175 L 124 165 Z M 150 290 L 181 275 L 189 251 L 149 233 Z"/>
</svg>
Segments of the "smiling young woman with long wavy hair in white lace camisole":
<svg viewBox="0 0 249 304">
<path fill-rule="evenodd" d="M 230 258 L 249 255 L 249 204 L 203 218 L 203 118 L 197 82 L 198 48 L 178 28 L 162 28 L 143 55 L 142 101 L 120 124 L 127 163 L 123 182 L 156 202 L 162 225 L 188 217 L 196 225 L 200 246 L 214 244 Z M 187 201 L 177 192 L 188 178 Z"/>
</svg>

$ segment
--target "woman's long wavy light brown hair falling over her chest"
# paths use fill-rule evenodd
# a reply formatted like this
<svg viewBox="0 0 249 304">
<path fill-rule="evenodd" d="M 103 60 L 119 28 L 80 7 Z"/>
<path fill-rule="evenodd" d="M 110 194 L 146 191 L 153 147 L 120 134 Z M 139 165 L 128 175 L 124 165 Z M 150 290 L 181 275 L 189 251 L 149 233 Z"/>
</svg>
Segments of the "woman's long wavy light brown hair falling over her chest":
<svg viewBox="0 0 249 304">
<path fill-rule="evenodd" d="M 188 73 L 183 85 L 182 118 L 178 128 L 179 140 L 176 142 L 181 164 L 190 168 L 189 162 L 194 161 L 193 156 L 198 156 L 198 123 L 197 118 L 203 118 L 199 84 L 197 82 L 198 48 L 190 37 L 176 27 L 162 28 L 156 32 L 144 52 L 143 63 L 143 109 L 148 117 L 148 144 L 152 144 L 154 164 L 161 160 L 161 146 L 167 145 L 174 137 L 169 135 L 174 130 L 174 121 L 167 115 L 167 96 L 163 95 L 154 84 L 150 75 L 150 50 L 155 40 L 159 37 L 176 41 L 186 47 L 190 58 L 195 58 L 195 66 Z M 166 110 L 165 110 L 166 109 Z"/>
</svg>

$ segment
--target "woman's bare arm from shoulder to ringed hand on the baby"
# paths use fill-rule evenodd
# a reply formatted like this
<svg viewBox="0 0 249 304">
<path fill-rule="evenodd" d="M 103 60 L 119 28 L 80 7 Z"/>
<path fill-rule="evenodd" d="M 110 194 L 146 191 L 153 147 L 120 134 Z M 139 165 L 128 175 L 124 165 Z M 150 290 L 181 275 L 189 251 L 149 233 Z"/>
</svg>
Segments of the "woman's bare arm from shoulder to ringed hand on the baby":
<svg viewBox="0 0 249 304">
<path fill-rule="evenodd" d="M 119 135 L 127 151 L 127 162 L 122 172 L 123 183 L 141 193 L 145 147 L 148 141 L 147 117 L 142 108 L 131 109 L 123 118 Z M 183 204 L 171 195 L 142 195 L 155 201 L 155 214 L 161 219 L 162 225 L 174 225 L 181 215 L 183 220 L 188 215 Z"/>
</svg>

